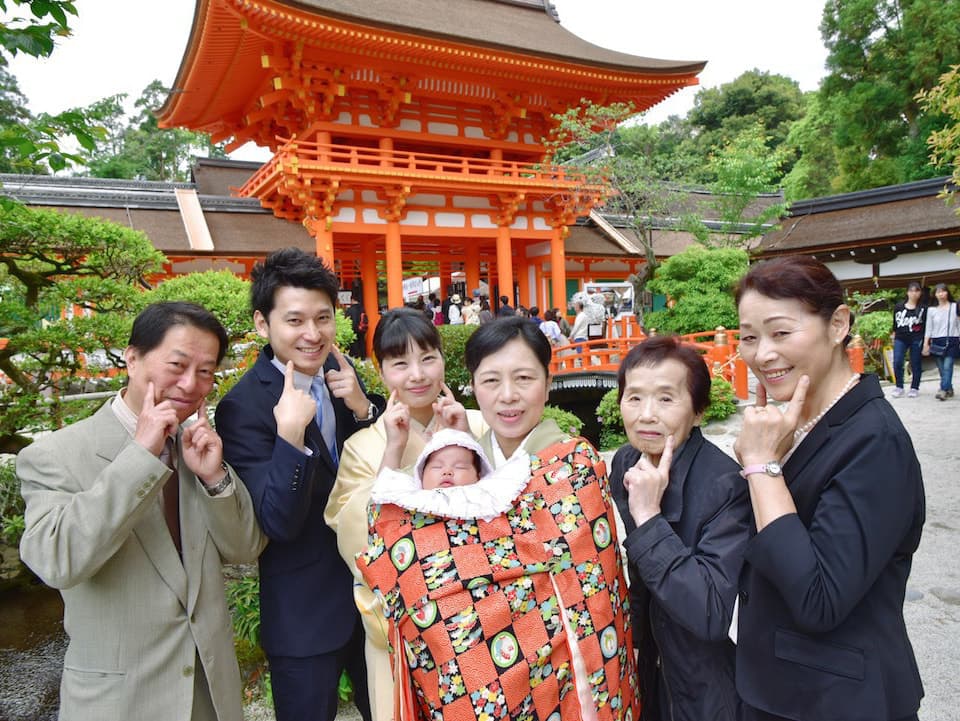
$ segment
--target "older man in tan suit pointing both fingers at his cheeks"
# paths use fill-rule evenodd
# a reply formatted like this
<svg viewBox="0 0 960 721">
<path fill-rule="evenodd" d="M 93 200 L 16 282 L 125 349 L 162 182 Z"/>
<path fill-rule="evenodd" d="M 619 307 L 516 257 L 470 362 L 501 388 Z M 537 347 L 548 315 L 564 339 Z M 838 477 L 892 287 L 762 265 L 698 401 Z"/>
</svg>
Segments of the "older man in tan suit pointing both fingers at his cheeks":
<svg viewBox="0 0 960 721">
<path fill-rule="evenodd" d="M 61 719 L 242 718 L 221 563 L 266 539 L 204 412 L 226 344 L 200 306 L 149 306 L 127 388 L 17 458 L 21 556 L 64 600 Z"/>
</svg>

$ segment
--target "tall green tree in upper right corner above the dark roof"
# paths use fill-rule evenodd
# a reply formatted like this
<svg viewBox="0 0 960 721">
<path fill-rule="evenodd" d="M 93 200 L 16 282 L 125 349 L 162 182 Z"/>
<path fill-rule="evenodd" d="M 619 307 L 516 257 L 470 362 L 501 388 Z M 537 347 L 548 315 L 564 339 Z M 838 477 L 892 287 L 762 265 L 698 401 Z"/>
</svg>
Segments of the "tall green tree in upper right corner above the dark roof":
<svg viewBox="0 0 960 721">
<path fill-rule="evenodd" d="M 840 190 L 928 178 L 926 139 L 943 127 L 918 100 L 960 62 L 960 3 L 828 0 L 820 26 Z"/>
</svg>

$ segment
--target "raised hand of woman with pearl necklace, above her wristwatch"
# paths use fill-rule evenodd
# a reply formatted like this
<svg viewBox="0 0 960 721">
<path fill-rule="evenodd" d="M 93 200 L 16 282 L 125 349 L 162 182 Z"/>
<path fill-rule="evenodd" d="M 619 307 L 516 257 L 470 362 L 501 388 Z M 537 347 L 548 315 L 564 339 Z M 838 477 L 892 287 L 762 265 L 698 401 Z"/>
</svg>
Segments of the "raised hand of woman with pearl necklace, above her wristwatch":
<svg viewBox="0 0 960 721">
<path fill-rule="evenodd" d="M 767 405 L 767 391 L 757 386 L 757 403 L 743 413 L 740 435 L 733 450 L 741 465 L 778 461 L 793 446 L 794 431 L 800 425 L 800 413 L 810 388 L 810 377 L 800 376 L 790 402 L 781 411 Z"/>
</svg>

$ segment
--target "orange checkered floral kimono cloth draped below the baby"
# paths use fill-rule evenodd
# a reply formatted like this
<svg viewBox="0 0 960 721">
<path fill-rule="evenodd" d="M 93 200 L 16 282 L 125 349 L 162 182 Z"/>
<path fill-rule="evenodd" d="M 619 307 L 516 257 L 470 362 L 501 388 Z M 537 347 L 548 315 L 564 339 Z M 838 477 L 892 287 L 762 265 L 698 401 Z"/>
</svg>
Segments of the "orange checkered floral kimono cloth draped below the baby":
<svg viewBox="0 0 960 721">
<path fill-rule="evenodd" d="M 387 609 L 397 721 L 581 718 L 561 607 L 599 721 L 639 718 L 603 460 L 573 439 L 532 455 L 531 472 L 490 522 L 371 509 L 358 567 Z"/>
</svg>

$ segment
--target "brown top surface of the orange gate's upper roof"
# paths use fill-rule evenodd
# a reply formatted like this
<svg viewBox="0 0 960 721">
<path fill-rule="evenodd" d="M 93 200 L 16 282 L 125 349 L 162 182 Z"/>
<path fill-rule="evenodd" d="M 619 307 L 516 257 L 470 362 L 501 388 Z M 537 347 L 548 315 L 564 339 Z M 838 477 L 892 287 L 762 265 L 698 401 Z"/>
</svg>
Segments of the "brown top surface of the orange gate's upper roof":
<svg viewBox="0 0 960 721">
<path fill-rule="evenodd" d="M 556 10 L 541 0 L 279 0 L 315 8 L 330 16 L 414 35 L 466 42 L 644 73 L 699 73 L 703 61 L 660 60 L 594 45 L 557 22 Z M 492 22 L 492 20 L 494 20 Z"/>
</svg>

